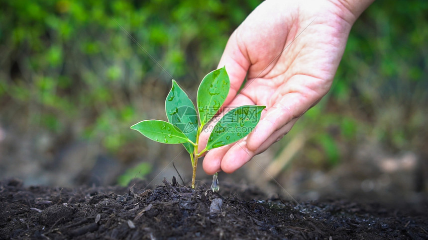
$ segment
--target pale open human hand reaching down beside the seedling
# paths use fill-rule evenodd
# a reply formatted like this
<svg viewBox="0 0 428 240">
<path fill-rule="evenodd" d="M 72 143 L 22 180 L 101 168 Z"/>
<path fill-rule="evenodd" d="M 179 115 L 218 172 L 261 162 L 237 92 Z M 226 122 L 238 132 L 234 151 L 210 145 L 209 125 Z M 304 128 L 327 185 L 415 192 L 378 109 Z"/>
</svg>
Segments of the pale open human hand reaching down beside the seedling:
<svg viewBox="0 0 428 240">
<path fill-rule="evenodd" d="M 244 139 L 208 152 L 207 174 L 232 173 L 287 134 L 328 92 L 352 24 L 373 0 L 267 0 L 232 33 L 218 67 L 230 90 L 223 106 L 264 105 Z M 244 88 L 239 87 L 247 77 Z M 199 151 L 208 134 L 200 137 Z"/>
</svg>

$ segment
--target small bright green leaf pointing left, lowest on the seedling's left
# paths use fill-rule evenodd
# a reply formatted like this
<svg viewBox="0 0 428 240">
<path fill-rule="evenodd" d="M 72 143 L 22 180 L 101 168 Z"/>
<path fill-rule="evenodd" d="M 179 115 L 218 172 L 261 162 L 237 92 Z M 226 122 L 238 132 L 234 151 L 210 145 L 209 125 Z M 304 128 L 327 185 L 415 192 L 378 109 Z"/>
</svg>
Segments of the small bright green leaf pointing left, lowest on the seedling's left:
<svg viewBox="0 0 428 240">
<path fill-rule="evenodd" d="M 166 144 L 179 144 L 189 142 L 184 133 L 169 122 L 161 120 L 144 120 L 131 126 L 147 138 Z"/>
</svg>

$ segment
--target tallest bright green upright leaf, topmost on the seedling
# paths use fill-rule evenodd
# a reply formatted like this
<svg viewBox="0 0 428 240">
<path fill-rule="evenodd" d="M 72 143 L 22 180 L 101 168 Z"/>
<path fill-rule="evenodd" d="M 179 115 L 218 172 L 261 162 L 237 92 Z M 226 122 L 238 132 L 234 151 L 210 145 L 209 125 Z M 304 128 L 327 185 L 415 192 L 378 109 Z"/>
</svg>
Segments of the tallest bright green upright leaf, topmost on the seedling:
<svg viewBox="0 0 428 240">
<path fill-rule="evenodd" d="M 230 81 L 225 67 L 207 74 L 201 81 L 196 97 L 201 126 L 210 121 L 223 105 L 229 88 Z"/>
</svg>

